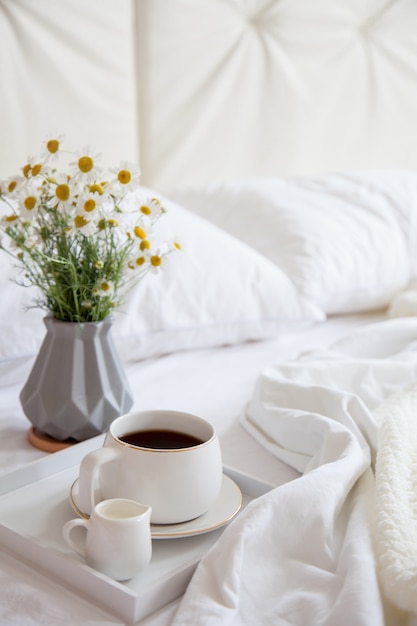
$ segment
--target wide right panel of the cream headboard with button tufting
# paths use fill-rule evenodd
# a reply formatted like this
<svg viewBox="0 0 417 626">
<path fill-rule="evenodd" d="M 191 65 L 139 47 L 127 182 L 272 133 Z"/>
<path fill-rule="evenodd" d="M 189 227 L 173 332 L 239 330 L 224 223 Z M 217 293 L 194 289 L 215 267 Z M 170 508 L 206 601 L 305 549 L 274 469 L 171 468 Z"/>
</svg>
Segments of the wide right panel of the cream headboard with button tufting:
<svg viewBox="0 0 417 626">
<path fill-rule="evenodd" d="M 141 0 L 143 179 L 417 167 L 416 0 Z"/>
</svg>

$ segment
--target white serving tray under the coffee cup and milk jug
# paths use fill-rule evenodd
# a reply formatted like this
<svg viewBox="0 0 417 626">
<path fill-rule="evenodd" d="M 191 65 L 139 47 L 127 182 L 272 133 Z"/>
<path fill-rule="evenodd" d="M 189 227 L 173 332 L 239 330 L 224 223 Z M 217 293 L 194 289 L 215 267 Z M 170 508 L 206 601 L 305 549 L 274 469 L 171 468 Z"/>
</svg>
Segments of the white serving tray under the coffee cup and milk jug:
<svg viewBox="0 0 417 626">
<path fill-rule="evenodd" d="M 135 623 L 184 593 L 224 527 L 194 537 L 154 540 L 150 565 L 126 583 L 90 568 L 67 546 L 62 527 L 75 517 L 68 496 L 80 461 L 101 447 L 103 439 L 95 437 L 0 477 L 0 548 L 124 622 Z M 242 490 L 243 507 L 273 488 L 230 467 L 224 471 Z"/>
</svg>

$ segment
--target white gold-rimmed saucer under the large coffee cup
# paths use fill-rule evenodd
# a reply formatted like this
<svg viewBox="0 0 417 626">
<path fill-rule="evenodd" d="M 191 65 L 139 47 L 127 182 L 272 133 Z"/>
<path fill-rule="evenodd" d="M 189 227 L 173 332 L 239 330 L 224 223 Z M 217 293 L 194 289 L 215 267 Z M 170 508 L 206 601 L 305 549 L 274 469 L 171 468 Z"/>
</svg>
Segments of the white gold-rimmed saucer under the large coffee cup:
<svg viewBox="0 0 417 626">
<path fill-rule="evenodd" d="M 71 486 L 69 499 L 77 515 L 88 519 L 89 515 L 81 511 L 77 504 L 79 501 L 78 478 Z M 208 533 L 230 522 L 240 511 L 241 507 L 242 492 L 229 476 L 223 474 L 220 493 L 207 513 L 181 524 L 151 524 L 151 535 L 153 539 L 173 539 L 175 537 L 192 537 L 193 535 Z"/>
</svg>

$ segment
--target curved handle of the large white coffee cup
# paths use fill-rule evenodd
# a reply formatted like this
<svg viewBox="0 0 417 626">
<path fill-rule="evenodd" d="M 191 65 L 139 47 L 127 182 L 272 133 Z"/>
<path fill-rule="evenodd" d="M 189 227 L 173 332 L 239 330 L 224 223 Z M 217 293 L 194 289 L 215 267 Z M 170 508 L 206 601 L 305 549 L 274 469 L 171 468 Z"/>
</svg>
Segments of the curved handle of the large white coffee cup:
<svg viewBox="0 0 417 626">
<path fill-rule="evenodd" d="M 81 461 L 79 475 L 79 504 L 83 513 L 91 515 L 95 505 L 100 500 L 99 492 L 100 468 L 118 458 L 119 451 L 110 446 L 89 452 Z"/>
</svg>

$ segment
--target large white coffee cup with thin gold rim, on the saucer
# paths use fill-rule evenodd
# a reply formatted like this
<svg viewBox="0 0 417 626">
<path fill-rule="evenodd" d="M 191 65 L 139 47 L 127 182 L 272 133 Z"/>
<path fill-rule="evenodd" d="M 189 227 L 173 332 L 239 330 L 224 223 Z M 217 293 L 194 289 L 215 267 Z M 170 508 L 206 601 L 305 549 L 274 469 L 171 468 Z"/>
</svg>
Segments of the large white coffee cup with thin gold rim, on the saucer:
<svg viewBox="0 0 417 626">
<path fill-rule="evenodd" d="M 186 433 L 198 442 L 167 449 L 123 441 L 128 433 L 151 429 Z M 206 420 L 180 411 L 129 413 L 115 419 L 103 447 L 81 461 L 80 509 L 89 514 L 99 500 L 129 498 L 152 507 L 154 524 L 185 522 L 210 509 L 222 473 L 219 440 Z"/>
</svg>

